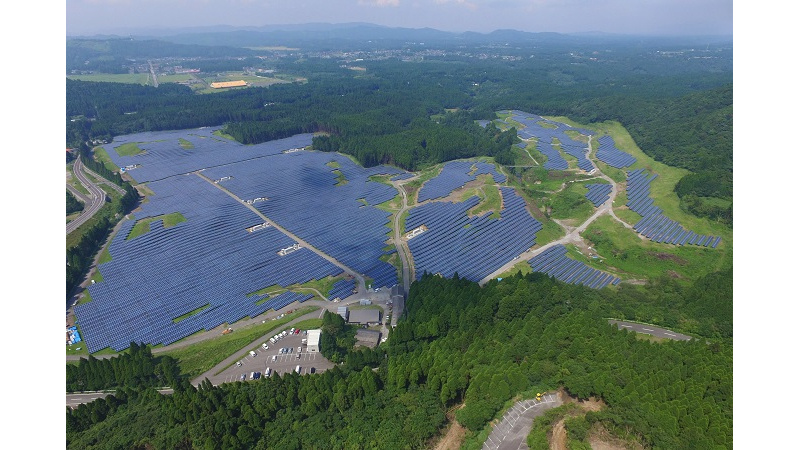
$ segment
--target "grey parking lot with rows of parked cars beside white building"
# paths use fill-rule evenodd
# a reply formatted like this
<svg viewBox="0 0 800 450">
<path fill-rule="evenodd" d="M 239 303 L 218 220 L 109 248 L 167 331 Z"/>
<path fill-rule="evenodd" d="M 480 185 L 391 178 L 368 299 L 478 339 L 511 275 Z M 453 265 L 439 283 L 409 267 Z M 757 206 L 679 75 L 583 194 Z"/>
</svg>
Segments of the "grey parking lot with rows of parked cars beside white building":
<svg viewBox="0 0 800 450">
<path fill-rule="evenodd" d="M 299 334 L 287 335 L 274 344 L 267 339 L 266 344 L 269 346 L 267 350 L 264 350 L 261 346 L 253 349 L 255 356 L 246 355 L 237 364 L 225 369 L 210 381 L 213 384 L 240 381 L 242 374 L 245 375 L 247 380 L 250 380 L 253 372 L 260 372 L 263 376 L 267 368 L 272 369 L 272 375 L 275 375 L 276 373 L 293 372 L 297 366 L 300 366 L 300 373 L 305 375 L 311 373 L 312 368 L 315 373 L 319 373 L 333 367 L 333 363 L 325 359 L 324 356 L 319 353 L 308 352 L 306 345 L 302 343 L 302 340 L 306 339 L 306 337 L 301 331 Z M 297 351 L 298 347 L 301 347 L 299 353 Z M 291 349 L 291 353 L 281 353 L 280 350 L 282 348 Z M 298 354 L 300 355 L 299 358 L 297 357 Z"/>
</svg>

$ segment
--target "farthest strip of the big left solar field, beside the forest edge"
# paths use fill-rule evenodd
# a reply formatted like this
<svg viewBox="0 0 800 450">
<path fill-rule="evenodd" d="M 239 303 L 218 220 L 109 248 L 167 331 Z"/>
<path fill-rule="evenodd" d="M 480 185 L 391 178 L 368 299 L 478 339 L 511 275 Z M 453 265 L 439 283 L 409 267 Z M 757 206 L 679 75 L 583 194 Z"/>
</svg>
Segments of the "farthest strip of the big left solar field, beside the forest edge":
<svg viewBox="0 0 800 450">
<path fill-rule="evenodd" d="M 130 170 L 128 174 L 137 182 L 161 180 L 172 175 L 194 172 L 207 167 L 231 162 L 244 161 L 267 155 L 280 154 L 291 148 L 311 145 L 311 134 L 298 134 L 286 139 L 264 142 L 257 145 L 243 145 L 238 142 L 214 136 L 215 129 L 159 131 L 117 136 L 105 146 L 111 160 L 118 167 L 139 164 L 141 167 Z M 181 147 L 180 139 L 192 144 L 192 148 Z M 114 150 L 126 143 L 138 143 L 142 153 L 133 156 L 119 156 Z"/>
</svg>

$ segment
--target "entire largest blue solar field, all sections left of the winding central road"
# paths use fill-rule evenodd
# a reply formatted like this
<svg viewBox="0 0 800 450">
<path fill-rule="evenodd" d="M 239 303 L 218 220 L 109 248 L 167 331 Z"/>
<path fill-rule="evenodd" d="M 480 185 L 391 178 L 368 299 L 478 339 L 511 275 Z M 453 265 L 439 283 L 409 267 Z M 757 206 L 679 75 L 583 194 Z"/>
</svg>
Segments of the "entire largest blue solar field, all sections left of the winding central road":
<svg viewBox="0 0 800 450">
<path fill-rule="evenodd" d="M 131 341 L 168 345 L 200 330 L 311 298 L 291 292 L 274 298 L 248 295 L 265 286 L 302 284 L 342 273 L 307 248 L 278 255 L 296 242 L 275 227 L 246 231 L 264 223 L 248 208 L 248 200 L 262 199 L 250 204 L 373 278 L 375 286 L 397 283 L 395 267 L 379 260 L 390 214 L 373 206 L 394 198 L 397 191 L 369 177 L 407 172 L 386 166 L 364 169 L 337 154 L 284 153 L 309 144 L 310 135 L 243 146 L 211 132 L 115 139 L 115 146 L 145 142 L 139 146 L 146 153 L 122 160 L 113 151 L 109 154 L 117 164 L 140 164 L 129 172 L 137 181 L 159 179 L 148 183 L 154 195 L 136 212 L 137 219 L 179 212 L 186 221 L 164 228 L 155 220 L 149 232 L 130 240 L 126 236 L 134 222 L 124 222 L 109 248 L 112 260 L 100 266 L 103 281 L 89 287 L 92 301 L 75 309 L 89 351 L 123 350 Z M 194 148 L 183 149 L 180 139 Z M 347 179 L 342 186 L 335 186 L 337 174 L 325 165 L 332 161 Z M 175 176 L 200 169 L 211 180 L 221 180 L 218 185 L 242 202 L 196 174 Z M 173 322 L 195 310 L 199 312 Z"/>
</svg>

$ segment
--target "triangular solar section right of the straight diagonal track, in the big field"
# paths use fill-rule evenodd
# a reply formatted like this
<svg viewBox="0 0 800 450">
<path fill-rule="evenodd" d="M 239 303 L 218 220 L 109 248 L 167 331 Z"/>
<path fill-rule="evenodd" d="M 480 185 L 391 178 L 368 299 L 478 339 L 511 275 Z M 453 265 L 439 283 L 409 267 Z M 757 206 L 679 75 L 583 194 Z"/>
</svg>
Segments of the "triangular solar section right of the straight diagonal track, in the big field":
<svg viewBox="0 0 800 450">
<path fill-rule="evenodd" d="M 331 162 L 336 169 L 326 165 Z M 334 170 L 347 182 L 337 186 L 339 175 Z M 232 176 L 220 185 L 239 198 L 269 198 L 253 207 L 345 266 L 373 278 L 376 287 L 396 284 L 397 271 L 379 259 L 391 229 L 391 213 L 372 205 L 393 199 L 397 190 L 369 177 L 401 173 L 388 166 L 363 168 L 335 153 L 307 151 L 203 172 L 211 179 Z"/>
</svg>

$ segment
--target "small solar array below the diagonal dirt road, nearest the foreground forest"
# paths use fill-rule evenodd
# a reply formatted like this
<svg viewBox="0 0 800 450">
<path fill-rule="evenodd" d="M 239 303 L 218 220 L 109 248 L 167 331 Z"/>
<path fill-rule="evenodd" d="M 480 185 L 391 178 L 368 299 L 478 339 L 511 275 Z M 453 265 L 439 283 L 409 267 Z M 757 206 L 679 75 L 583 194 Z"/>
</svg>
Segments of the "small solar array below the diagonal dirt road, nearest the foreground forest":
<svg viewBox="0 0 800 450">
<path fill-rule="evenodd" d="M 567 248 L 554 245 L 531 258 L 528 263 L 534 272 L 541 272 L 569 284 L 582 284 L 592 289 L 616 285 L 620 279 L 567 256 Z"/>
</svg>

